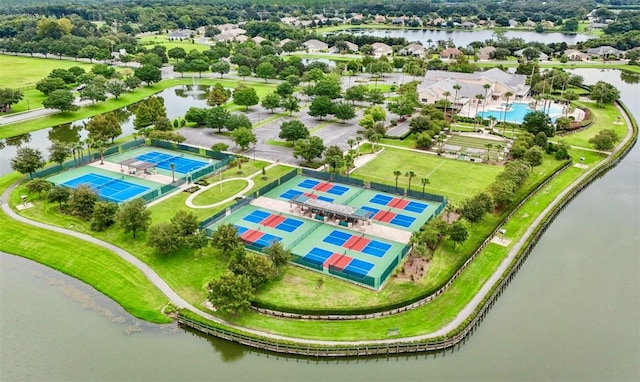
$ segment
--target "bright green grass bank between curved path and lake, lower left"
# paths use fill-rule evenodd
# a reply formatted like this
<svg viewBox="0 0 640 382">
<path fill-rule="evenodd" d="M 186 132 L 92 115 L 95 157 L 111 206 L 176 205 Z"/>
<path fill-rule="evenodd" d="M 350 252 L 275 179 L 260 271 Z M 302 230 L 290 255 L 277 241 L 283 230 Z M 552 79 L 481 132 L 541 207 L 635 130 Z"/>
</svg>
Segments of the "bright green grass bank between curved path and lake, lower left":
<svg viewBox="0 0 640 382">
<path fill-rule="evenodd" d="M 19 178 L 16 173 L 1 177 L 0 193 Z M 18 203 L 13 197 L 11 204 Z M 51 208 L 47 208 L 40 214 L 40 220 L 48 222 L 52 215 Z M 73 219 L 69 219 L 66 226 L 73 222 Z M 162 292 L 142 272 L 106 249 L 17 222 L 4 213 L 0 213 L 0 237 L 1 251 L 37 261 L 76 277 L 138 318 L 157 323 L 170 321 L 160 313 L 162 306 L 167 303 Z"/>
</svg>

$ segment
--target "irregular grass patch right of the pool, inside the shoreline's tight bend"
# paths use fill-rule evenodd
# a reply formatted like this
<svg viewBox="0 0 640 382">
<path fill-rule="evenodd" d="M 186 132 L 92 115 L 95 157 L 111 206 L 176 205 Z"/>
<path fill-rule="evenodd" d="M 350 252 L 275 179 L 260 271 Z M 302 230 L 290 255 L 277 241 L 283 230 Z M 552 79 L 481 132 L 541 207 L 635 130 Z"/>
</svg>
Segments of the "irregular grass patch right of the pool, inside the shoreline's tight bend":
<svg viewBox="0 0 640 382">
<path fill-rule="evenodd" d="M 613 105 L 597 106 L 595 103 L 581 103 L 576 102 L 580 106 L 588 107 L 595 116 L 595 122 L 587 129 L 578 133 L 569 134 L 564 137 L 552 138 L 552 141 L 562 141 L 571 146 L 585 147 L 593 149 L 593 145 L 589 143 L 589 139 L 593 138 L 599 131 L 605 129 L 612 129 L 618 135 L 618 138 L 622 139 L 627 133 L 627 126 L 624 123 L 624 119 L 621 119 L 621 124 L 616 124 L 616 118 L 620 116 L 620 111 Z"/>
</svg>

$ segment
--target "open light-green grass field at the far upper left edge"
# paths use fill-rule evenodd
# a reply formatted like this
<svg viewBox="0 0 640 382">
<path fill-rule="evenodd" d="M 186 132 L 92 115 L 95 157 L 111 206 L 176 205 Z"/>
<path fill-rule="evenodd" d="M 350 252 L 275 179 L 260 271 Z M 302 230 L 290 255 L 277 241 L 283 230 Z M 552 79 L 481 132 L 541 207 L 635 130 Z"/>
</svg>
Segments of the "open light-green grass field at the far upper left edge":
<svg viewBox="0 0 640 382">
<path fill-rule="evenodd" d="M 90 71 L 94 66 L 86 62 L 58 60 L 51 58 L 37 58 L 24 56 L 0 55 L 0 84 L 8 88 L 24 88 L 35 86 L 36 82 L 45 78 L 53 69 L 69 69 L 79 66 Z M 38 92 L 39 93 L 39 92 Z M 33 106 L 32 106 L 33 107 Z"/>
</svg>

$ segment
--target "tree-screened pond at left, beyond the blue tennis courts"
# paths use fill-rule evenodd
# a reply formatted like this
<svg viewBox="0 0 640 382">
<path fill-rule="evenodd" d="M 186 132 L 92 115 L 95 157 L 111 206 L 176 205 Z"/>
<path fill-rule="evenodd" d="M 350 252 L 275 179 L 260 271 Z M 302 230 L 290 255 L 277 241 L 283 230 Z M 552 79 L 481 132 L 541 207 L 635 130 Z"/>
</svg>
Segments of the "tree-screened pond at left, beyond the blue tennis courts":
<svg viewBox="0 0 640 382">
<path fill-rule="evenodd" d="M 204 97 L 204 87 L 199 85 L 176 86 L 168 88 L 157 95 L 164 98 L 164 105 L 167 109 L 167 118 L 174 119 L 182 117 L 190 107 L 206 107 L 207 102 Z M 135 132 L 133 128 L 134 115 L 126 108 L 119 109 L 116 115 L 120 119 L 122 126 L 121 136 L 131 135 Z M 56 139 L 62 142 L 78 142 L 87 137 L 87 131 L 82 128 L 83 122 L 89 119 L 76 121 L 73 124 L 65 124 L 49 129 L 34 131 L 17 137 L 7 138 L 7 145 L 0 149 L 0 175 L 11 172 L 9 160 L 16 154 L 18 145 L 23 144 L 35 149 L 39 149 L 45 158 L 49 152 L 47 147 L 51 145 L 51 140 Z"/>
</svg>

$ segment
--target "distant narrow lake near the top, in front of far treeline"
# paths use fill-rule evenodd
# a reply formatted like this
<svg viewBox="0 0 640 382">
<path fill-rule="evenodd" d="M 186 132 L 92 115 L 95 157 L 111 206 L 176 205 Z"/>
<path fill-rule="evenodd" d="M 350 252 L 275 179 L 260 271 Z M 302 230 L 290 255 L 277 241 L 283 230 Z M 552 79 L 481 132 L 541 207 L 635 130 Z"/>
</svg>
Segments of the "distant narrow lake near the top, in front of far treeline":
<svg viewBox="0 0 640 382">
<path fill-rule="evenodd" d="M 444 31 L 444 30 L 407 30 L 407 29 L 353 29 L 348 31 L 353 34 L 366 34 L 377 37 L 396 37 L 406 38 L 407 41 L 420 41 L 423 46 L 429 46 L 429 40 L 431 45 L 435 45 L 438 40 L 448 41 L 453 40 L 456 46 L 467 46 L 474 41 L 486 41 L 495 40 L 494 31 L 491 30 L 476 30 L 476 31 Z M 563 33 L 536 33 L 534 31 L 506 31 L 505 37 L 509 38 L 521 38 L 525 42 L 542 42 L 549 44 L 552 42 L 566 42 L 567 44 L 577 44 L 581 41 L 587 41 L 592 36 L 584 34 L 563 34 Z"/>
</svg>

